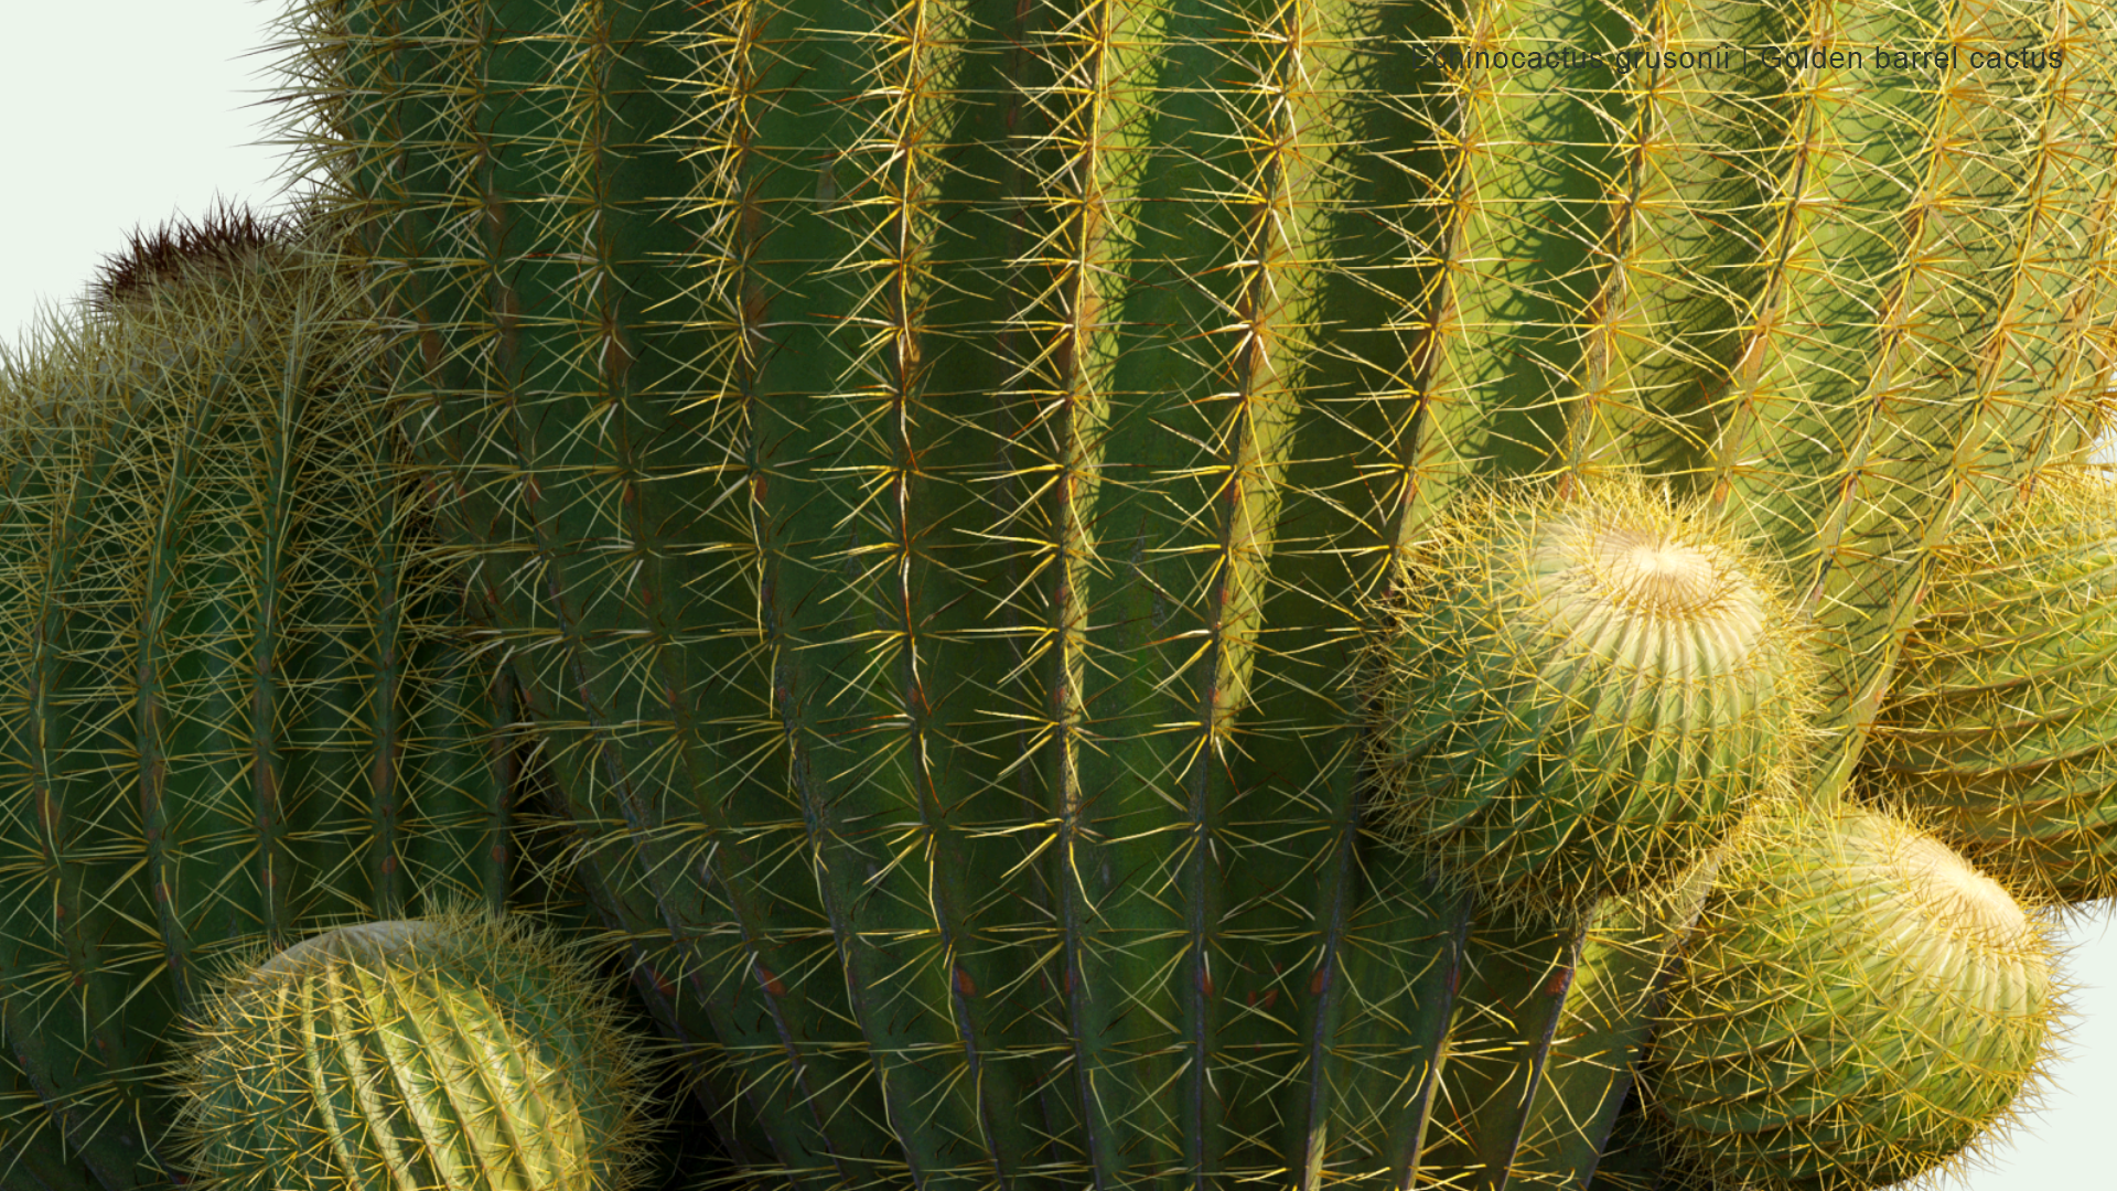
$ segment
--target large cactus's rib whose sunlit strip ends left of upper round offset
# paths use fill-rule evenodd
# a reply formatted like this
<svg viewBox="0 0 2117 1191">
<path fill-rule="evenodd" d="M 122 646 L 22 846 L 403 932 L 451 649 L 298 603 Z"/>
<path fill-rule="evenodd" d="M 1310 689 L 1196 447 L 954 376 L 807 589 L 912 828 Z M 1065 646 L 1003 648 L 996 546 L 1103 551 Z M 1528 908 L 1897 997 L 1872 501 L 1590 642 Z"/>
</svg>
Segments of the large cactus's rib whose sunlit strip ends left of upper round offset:
<svg viewBox="0 0 2117 1191">
<path fill-rule="evenodd" d="M 1241 1079 L 1243 1060 L 1228 1053 L 1243 1032 L 1224 1026 L 1228 1000 L 1215 971 L 1219 979 L 1238 971 L 1238 939 L 1255 930 L 1255 911 L 1270 907 L 1226 896 L 1222 873 L 1243 852 L 1272 848 L 1266 822 L 1238 818 L 1247 814 L 1247 790 L 1234 782 L 1234 759 L 1253 731 L 1243 721 L 1251 710 L 1296 392 L 1310 354 L 1319 191 L 1329 150 L 1323 83 L 1332 47 L 1319 45 L 1329 38 L 1327 11 L 1304 2 L 1238 13 L 1171 11 L 1173 70 L 1158 87 L 1154 119 L 1186 131 L 1169 138 L 1181 159 L 1156 161 L 1141 178 L 1137 237 L 1143 246 L 1181 244 L 1186 231 L 1207 220 L 1224 231 L 1207 242 L 1209 256 L 1152 261 L 1152 273 L 1145 254 L 1135 259 L 1139 273 L 1175 284 L 1137 288 L 1162 297 L 1154 305 L 1126 303 L 1120 333 L 1166 331 L 1120 360 L 1111 379 L 1114 394 L 1135 403 L 1130 420 L 1141 426 L 1152 420 L 1162 434 L 1190 443 L 1190 451 L 1177 443 L 1150 449 L 1143 458 L 1154 458 L 1160 475 L 1139 475 L 1124 487 L 1128 502 L 1143 504 L 1143 532 L 1133 549 L 1160 555 L 1152 568 L 1175 604 L 1156 617 L 1160 638 L 1150 636 L 1137 653 L 1154 659 L 1145 672 L 1173 704 L 1147 723 L 1192 721 L 1179 733 L 1145 727 L 1141 735 L 1160 737 L 1158 771 L 1130 763 L 1139 778 L 1166 782 L 1162 799 L 1173 812 L 1164 871 L 1183 905 L 1179 968 L 1171 973 L 1173 1043 L 1183 1062 L 1173 1125 L 1192 1187 L 1270 1168 L 1257 1155 L 1234 1159 L 1228 1151 L 1251 1136 L 1257 1117 L 1238 1100 L 1255 1094 Z M 1213 32 L 1222 34 L 1219 45 Z M 1181 519 L 1160 523 L 1162 511 L 1147 504 L 1152 496 L 1183 511 Z M 1101 697 L 1107 704 L 1124 697 L 1120 691 L 1107 687 Z M 1145 706 L 1145 693 L 1139 704 Z M 1101 718 L 1114 721 L 1107 712 Z M 1105 740 L 1114 727 L 1103 729 Z M 1232 1161 L 1238 1166 L 1230 1168 Z"/>
</svg>

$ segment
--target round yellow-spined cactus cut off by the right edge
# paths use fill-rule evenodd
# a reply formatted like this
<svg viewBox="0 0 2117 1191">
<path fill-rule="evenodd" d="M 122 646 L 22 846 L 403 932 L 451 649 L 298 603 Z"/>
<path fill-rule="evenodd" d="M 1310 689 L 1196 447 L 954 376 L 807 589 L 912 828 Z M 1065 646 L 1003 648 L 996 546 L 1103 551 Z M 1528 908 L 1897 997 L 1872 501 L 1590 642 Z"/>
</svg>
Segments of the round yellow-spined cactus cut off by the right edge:
<svg viewBox="0 0 2117 1191">
<path fill-rule="evenodd" d="M 1863 782 L 2030 896 L 2117 894 L 2117 477 L 1958 526 Z"/>
</svg>

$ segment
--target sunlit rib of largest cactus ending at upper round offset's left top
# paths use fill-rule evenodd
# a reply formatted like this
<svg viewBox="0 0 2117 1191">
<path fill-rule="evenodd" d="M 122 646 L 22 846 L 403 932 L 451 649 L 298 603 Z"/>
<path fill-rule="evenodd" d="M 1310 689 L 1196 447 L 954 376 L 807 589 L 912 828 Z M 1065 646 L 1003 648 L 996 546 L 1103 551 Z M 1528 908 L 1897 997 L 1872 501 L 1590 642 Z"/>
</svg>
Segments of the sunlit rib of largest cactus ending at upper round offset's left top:
<svg viewBox="0 0 2117 1191">
<path fill-rule="evenodd" d="M 1541 72 L 1478 55 L 1634 38 L 1615 6 L 1469 0 L 1429 13 L 1421 42 L 1463 59 L 1418 70 L 1404 100 L 1437 146 L 1421 163 L 1425 195 L 1406 229 L 1423 269 L 1418 307 L 1404 316 L 1414 328 L 1418 519 L 1467 479 L 1518 479 L 1556 462 L 1584 341 L 1573 318 L 1598 288 L 1592 237 L 1605 178 L 1620 174 L 1609 127 L 1628 123 L 1609 68 L 1586 72 L 1584 87 L 1552 87 Z"/>
</svg>

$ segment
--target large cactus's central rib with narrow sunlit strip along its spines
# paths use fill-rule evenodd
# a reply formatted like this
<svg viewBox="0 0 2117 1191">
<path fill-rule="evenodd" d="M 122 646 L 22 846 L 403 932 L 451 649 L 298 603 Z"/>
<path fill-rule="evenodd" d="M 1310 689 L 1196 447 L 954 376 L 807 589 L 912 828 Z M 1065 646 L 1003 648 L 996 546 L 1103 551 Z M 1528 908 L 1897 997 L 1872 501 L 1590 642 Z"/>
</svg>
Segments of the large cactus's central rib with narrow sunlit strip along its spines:
<svg viewBox="0 0 2117 1191">
<path fill-rule="evenodd" d="M 1010 687 L 1025 723 L 1035 725 L 1025 754 L 1031 795 L 1044 799 L 1050 839 L 1037 846 L 1058 926 L 1058 1015 L 1071 1060 L 1071 1113 L 1082 1134 L 1080 1163 L 1097 1191 L 1128 1183 L 1122 1174 L 1139 1104 L 1118 1070 L 1111 1026 L 1126 1013 L 1124 977 L 1103 966 L 1099 890 L 1099 799 L 1082 784 L 1084 754 L 1099 748 L 1090 727 L 1092 576 L 1107 568 L 1101 494 L 1116 343 L 1109 322 L 1135 248 L 1139 144 L 1133 104 L 1166 36 L 1147 4 L 1088 0 L 1039 4 L 1025 28 L 1029 64 L 1018 81 L 1027 127 L 1012 172 L 1029 244 L 1010 267 L 1020 297 L 1010 331 L 1027 345 L 1006 394 L 1020 411 L 1010 434 L 1018 504 L 995 534 L 1023 540 L 1023 579 L 1006 604 L 1025 625 L 1020 670 Z M 1135 568 L 1141 559 L 1135 559 Z M 1099 795 L 1099 793 L 1097 793 Z"/>
</svg>

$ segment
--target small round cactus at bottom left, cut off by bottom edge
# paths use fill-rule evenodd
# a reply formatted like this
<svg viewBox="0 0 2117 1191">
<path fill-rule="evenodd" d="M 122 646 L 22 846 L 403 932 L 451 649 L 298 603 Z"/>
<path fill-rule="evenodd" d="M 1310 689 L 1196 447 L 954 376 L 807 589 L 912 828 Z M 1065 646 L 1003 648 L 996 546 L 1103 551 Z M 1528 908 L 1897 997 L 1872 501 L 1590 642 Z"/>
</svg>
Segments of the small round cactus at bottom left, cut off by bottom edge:
<svg viewBox="0 0 2117 1191">
<path fill-rule="evenodd" d="M 315 935 L 193 1024 L 180 1132 L 229 1191 L 616 1191 L 639 1174 L 644 1051 L 519 920 Z"/>
</svg>

